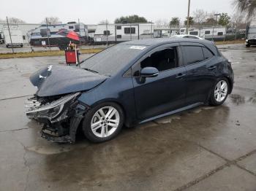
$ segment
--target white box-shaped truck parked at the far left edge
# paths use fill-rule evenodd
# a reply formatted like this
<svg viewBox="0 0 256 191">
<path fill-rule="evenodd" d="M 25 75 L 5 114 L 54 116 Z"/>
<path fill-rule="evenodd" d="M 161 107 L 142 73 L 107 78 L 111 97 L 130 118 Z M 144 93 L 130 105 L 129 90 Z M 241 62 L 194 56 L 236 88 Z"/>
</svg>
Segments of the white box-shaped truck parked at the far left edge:
<svg viewBox="0 0 256 191">
<path fill-rule="evenodd" d="M 17 29 L 10 30 L 10 32 L 9 30 L 4 30 L 4 42 L 6 47 L 23 47 L 22 32 Z"/>
</svg>

